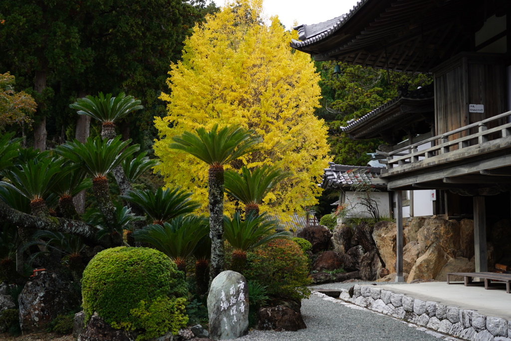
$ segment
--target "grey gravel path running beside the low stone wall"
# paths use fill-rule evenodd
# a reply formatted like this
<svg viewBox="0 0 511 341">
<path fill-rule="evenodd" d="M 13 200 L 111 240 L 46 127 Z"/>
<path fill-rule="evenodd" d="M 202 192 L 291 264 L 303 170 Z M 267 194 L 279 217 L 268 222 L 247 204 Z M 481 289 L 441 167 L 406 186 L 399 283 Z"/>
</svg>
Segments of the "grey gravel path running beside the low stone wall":
<svg viewBox="0 0 511 341">
<path fill-rule="evenodd" d="M 370 282 L 358 282 L 359 284 Z M 349 289 L 355 283 L 329 283 L 316 285 L 315 288 Z M 379 285 L 385 283 L 378 283 Z M 396 284 L 396 283 L 392 283 Z M 401 320 L 385 316 L 365 308 L 350 307 L 340 300 L 325 300 L 322 294 L 311 295 L 303 300 L 301 313 L 307 329 L 296 332 L 275 332 L 252 330 L 248 335 L 238 338 L 240 341 L 377 341 L 377 340 L 413 340 L 445 341 L 457 338 L 439 334 L 422 327 L 410 325 Z M 346 303 L 346 302 L 344 302 Z"/>
</svg>

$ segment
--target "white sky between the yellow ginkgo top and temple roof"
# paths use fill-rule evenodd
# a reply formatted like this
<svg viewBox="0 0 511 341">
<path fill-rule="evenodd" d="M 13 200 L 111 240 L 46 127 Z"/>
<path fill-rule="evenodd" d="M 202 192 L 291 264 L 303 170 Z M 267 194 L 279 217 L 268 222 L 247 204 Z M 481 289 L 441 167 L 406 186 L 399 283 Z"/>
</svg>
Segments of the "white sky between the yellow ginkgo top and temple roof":
<svg viewBox="0 0 511 341">
<path fill-rule="evenodd" d="M 217 6 L 225 3 L 214 1 Z M 347 13 L 356 4 L 357 0 L 264 0 L 263 7 L 266 15 L 278 15 L 286 29 L 291 29 L 295 20 L 312 25 Z"/>
</svg>

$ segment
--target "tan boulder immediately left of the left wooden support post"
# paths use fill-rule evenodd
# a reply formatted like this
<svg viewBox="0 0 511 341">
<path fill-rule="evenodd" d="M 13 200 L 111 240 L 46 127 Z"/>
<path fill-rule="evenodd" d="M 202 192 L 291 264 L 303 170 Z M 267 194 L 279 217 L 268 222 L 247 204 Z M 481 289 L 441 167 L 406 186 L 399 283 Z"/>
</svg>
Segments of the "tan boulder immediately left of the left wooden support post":
<svg viewBox="0 0 511 341">
<path fill-rule="evenodd" d="M 396 223 L 376 223 L 373 239 L 386 269 L 390 273 L 396 272 Z"/>
</svg>

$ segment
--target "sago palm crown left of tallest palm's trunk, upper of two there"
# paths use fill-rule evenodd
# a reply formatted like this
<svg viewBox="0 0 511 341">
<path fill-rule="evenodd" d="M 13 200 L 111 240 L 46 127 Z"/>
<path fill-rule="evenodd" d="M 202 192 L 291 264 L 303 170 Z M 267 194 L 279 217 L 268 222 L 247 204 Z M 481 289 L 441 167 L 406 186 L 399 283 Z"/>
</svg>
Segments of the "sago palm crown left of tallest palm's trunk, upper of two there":
<svg viewBox="0 0 511 341">
<path fill-rule="evenodd" d="M 172 218 L 186 213 L 192 213 L 200 204 L 190 200 L 192 193 L 180 187 L 162 189 L 153 193 L 151 190 L 129 191 L 121 199 L 140 207 L 150 218 L 152 224 L 162 225 Z"/>
</svg>

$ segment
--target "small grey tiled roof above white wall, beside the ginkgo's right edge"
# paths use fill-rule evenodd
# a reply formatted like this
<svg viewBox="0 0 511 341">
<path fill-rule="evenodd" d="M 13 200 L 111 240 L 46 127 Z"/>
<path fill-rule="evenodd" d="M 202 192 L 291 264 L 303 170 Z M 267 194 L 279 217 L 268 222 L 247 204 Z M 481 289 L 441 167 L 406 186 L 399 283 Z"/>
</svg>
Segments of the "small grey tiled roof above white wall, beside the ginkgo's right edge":
<svg viewBox="0 0 511 341">
<path fill-rule="evenodd" d="M 380 167 L 347 166 L 329 162 L 329 168 L 324 168 L 323 181 L 319 187 L 351 188 L 352 185 L 362 181 L 369 181 L 375 187 L 386 188 L 387 185 L 379 179 Z M 356 171 L 354 171 L 356 169 Z"/>
</svg>

